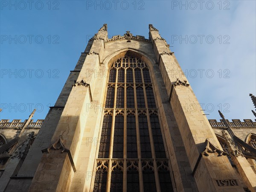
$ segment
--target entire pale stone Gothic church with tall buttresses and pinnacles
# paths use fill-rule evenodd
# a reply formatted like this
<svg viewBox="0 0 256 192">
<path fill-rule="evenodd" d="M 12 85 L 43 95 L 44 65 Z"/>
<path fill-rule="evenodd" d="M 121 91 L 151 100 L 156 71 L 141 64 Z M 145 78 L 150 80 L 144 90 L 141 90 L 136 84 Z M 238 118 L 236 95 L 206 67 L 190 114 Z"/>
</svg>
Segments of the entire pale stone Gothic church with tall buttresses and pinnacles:
<svg viewBox="0 0 256 192">
<path fill-rule="evenodd" d="M 0 120 L 0 192 L 255 192 L 255 120 L 185 110 L 200 105 L 169 47 L 104 24 L 45 119 Z"/>
</svg>

